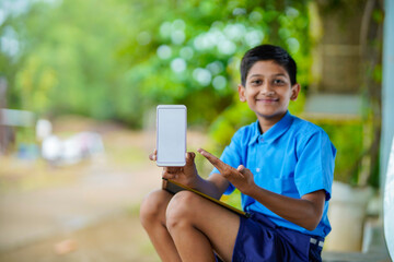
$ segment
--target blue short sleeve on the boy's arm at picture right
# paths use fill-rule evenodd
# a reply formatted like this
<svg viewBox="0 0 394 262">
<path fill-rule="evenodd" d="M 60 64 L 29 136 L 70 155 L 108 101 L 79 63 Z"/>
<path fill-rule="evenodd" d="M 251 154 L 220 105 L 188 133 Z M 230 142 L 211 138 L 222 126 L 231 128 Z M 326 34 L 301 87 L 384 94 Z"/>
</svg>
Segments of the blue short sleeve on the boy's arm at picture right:
<svg viewBox="0 0 394 262">
<path fill-rule="evenodd" d="M 326 200 L 329 200 L 336 148 L 328 135 L 323 130 L 314 132 L 305 143 L 301 143 L 297 155 L 294 180 L 300 195 L 323 189 L 326 192 Z"/>
</svg>

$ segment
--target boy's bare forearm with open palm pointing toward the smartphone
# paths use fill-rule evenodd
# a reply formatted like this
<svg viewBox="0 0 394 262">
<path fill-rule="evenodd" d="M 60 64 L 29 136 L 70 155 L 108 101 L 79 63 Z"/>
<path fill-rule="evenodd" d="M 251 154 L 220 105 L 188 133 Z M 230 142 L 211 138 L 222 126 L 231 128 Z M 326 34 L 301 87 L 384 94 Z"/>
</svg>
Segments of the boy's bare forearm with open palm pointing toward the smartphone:
<svg viewBox="0 0 394 262">
<path fill-rule="evenodd" d="M 255 184 L 253 174 L 242 165 L 235 169 L 204 150 L 198 150 L 198 152 L 242 193 L 255 199 L 277 215 L 308 230 L 313 230 L 318 225 L 325 202 L 324 190 L 308 193 L 301 199 L 274 193 Z"/>
</svg>

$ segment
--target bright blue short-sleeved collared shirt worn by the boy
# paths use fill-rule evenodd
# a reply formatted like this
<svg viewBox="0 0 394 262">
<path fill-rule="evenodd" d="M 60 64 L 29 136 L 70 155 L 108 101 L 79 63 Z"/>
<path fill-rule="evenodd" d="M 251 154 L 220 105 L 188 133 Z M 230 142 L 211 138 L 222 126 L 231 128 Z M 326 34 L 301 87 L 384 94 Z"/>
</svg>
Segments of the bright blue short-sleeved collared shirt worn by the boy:
<svg viewBox="0 0 394 262">
<path fill-rule="evenodd" d="M 322 219 L 313 231 L 281 218 L 245 194 L 241 194 L 243 210 L 265 214 L 281 227 L 313 236 L 327 236 L 331 231 L 327 210 L 336 155 L 328 135 L 322 128 L 289 111 L 267 132 L 262 134 L 259 130 L 258 121 L 241 128 L 220 159 L 234 168 L 244 165 L 253 172 L 255 183 L 271 192 L 301 199 L 304 194 L 323 189 L 326 201 Z M 213 168 L 213 172 L 219 170 Z M 234 189 L 230 183 L 225 194 Z"/>
</svg>

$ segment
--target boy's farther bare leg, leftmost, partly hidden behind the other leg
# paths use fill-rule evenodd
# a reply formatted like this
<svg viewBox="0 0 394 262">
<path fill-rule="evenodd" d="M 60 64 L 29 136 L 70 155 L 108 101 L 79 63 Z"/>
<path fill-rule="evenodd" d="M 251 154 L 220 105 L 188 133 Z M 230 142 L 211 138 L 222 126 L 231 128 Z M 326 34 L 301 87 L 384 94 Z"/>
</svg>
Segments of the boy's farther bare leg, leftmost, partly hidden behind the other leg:
<svg viewBox="0 0 394 262">
<path fill-rule="evenodd" d="M 153 191 L 143 200 L 140 221 L 162 261 L 181 261 L 174 241 L 166 228 L 165 211 L 173 194 Z"/>
</svg>

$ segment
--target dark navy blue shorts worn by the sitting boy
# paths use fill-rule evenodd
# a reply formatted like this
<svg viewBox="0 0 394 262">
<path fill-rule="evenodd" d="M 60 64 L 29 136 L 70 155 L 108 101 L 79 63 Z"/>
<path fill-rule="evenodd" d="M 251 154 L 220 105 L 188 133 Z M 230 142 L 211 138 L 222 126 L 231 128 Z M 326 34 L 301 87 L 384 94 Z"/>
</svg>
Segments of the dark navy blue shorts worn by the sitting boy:
<svg viewBox="0 0 394 262">
<path fill-rule="evenodd" d="M 241 217 L 240 230 L 235 240 L 233 262 L 321 262 L 324 239 L 279 227 L 259 213 Z M 316 240 L 316 241 L 315 241 Z"/>
</svg>

